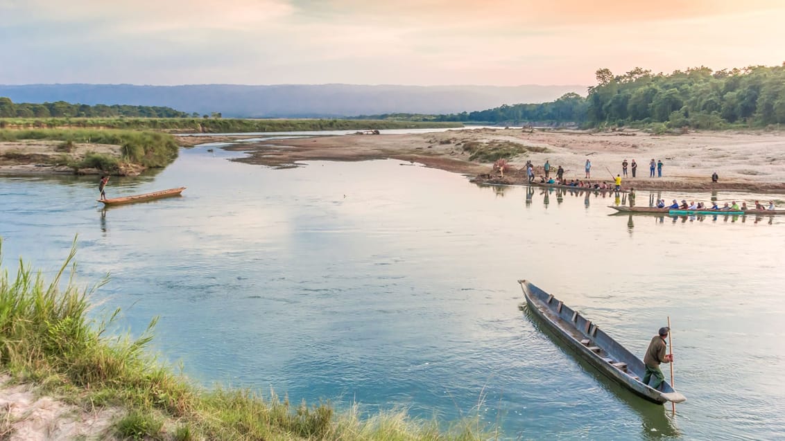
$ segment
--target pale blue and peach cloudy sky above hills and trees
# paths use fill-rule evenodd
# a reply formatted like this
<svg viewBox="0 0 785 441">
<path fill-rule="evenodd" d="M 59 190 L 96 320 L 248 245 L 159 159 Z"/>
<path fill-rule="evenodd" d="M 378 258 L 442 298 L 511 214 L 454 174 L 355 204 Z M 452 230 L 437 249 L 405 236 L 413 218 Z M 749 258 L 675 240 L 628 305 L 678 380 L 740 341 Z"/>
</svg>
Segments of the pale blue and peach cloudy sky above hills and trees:
<svg viewBox="0 0 785 441">
<path fill-rule="evenodd" d="M 0 0 L 0 84 L 594 85 L 785 61 L 785 0 Z"/>
</svg>

